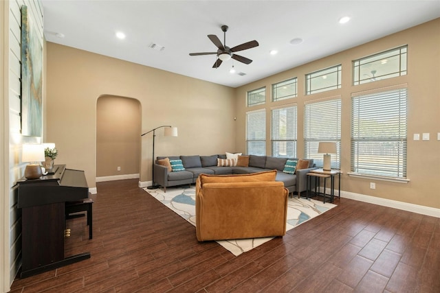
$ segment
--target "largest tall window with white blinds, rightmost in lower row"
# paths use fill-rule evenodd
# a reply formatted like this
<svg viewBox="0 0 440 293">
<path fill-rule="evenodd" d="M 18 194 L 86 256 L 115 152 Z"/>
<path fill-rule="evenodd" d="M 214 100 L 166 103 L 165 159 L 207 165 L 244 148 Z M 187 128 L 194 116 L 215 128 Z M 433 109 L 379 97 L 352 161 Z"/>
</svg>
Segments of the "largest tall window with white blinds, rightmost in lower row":
<svg viewBox="0 0 440 293">
<path fill-rule="evenodd" d="M 406 178 L 406 89 L 352 97 L 351 172 Z"/>
</svg>

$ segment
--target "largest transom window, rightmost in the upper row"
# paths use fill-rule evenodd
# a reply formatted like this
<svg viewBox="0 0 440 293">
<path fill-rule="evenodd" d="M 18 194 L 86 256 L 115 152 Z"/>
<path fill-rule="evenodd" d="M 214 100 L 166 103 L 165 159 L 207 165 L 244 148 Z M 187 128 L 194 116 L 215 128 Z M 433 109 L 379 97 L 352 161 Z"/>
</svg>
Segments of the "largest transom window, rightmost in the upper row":
<svg viewBox="0 0 440 293">
<path fill-rule="evenodd" d="M 406 75 L 407 51 L 404 46 L 353 61 L 353 84 Z"/>
</svg>

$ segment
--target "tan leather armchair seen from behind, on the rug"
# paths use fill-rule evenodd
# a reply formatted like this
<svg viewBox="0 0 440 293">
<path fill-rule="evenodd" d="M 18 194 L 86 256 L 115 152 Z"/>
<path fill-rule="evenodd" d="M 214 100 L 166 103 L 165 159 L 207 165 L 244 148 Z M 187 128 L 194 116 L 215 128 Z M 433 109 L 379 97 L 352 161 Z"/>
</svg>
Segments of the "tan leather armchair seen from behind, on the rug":
<svg viewBox="0 0 440 293">
<path fill-rule="evenodd" d="M 199 241 L 283 236 L 288 191 L 276 171 L 243 175 L 201 174 L 196 182 Z"/>
</svg>

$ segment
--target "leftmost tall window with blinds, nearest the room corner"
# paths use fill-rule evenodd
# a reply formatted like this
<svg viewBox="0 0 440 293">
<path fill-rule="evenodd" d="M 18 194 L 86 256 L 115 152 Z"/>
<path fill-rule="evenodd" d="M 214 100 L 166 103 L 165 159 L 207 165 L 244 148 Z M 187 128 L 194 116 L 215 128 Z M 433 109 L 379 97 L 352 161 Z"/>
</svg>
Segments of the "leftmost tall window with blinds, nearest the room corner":
<svg viewBox="0 0 440 293">
<path fill-rule="evenodd" d="M 246 113 L 246 152 L 266 155 L 266 110 Z"/>
</svg>

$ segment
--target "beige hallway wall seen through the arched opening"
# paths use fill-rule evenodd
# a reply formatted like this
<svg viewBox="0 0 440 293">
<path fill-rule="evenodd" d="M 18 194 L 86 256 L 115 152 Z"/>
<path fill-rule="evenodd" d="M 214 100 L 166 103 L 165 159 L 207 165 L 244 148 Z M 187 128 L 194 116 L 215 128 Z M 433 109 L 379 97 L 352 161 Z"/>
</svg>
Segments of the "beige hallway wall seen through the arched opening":
<svg viewBox="0 0 440 293">
<path fill-rule="evenodd" d="M 112 95 L 98 98 L 96 177 L 139 174 L 140 127 L 141 108 L 137 99 Z"/>
</svg>

